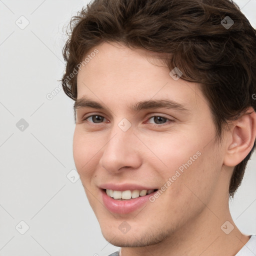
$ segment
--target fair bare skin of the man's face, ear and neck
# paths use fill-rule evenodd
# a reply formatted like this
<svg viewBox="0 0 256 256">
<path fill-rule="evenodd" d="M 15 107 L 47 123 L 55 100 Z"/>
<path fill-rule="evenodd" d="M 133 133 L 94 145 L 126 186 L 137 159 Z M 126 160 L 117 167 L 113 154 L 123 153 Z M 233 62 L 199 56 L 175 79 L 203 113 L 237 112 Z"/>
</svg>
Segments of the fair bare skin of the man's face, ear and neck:
<svg viewBox="0 0 256 256">
<path fill-rule="evenodd" d="M 99 52 L 78 72 L 77 99 L 86 96 L 105 109 L 76 109 L 73 157 L 105 239 L 122 247 L 122 256 L 235 255 L 249 236 L 231 218 L 228 184 L 233 166 L 252 148 L 255 112 L 233 122 L 217 143 L 199 84 L 174 80 L 149 51 L 107 42 L 96 48 Z M 140 100 L 163 98 L 188 111 L 128 108 Z M 101 121 L 87 118 L 93 114 L 102 116 Z M 167 119 L 157 123 L 152 116 Z M 118 127 L 123 118 L 132 124 L 125 132 Z M 160 189 L 197 151 L 200 156 L 154 202 L 128 214 L 104 207 L 100 184 Z M 220 228 L 227 220 L 234 226 L 229 234 Z M 123 221 L 130 226 L 125 234 L 118 228 Z"/>
</svg>

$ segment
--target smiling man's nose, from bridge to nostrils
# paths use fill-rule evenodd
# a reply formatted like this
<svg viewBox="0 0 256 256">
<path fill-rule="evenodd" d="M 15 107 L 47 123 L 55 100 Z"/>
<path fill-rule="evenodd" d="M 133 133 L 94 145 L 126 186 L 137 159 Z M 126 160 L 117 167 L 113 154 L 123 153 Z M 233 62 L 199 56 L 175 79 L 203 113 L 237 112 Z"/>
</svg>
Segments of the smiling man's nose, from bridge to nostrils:
<svg viewBox="0 0 256 256">
<path fill-rule="evenodd" d="M 133 134 L 132 128 L 122 131 L 115 125 L 103 147 L 99 164 L 112 173 L 118 173 L 127 168 L 136 169 L 141 165 L 139 147 L 141 147 L 139 139 Z"/>
</svg>

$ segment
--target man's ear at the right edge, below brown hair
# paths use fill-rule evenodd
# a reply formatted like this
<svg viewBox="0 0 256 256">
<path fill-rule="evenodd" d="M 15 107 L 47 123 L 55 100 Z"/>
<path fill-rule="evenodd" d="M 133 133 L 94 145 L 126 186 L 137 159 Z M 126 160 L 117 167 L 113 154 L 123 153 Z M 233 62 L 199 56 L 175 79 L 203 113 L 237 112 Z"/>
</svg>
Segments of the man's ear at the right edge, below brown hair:
<svg viewBox="0 0 256 256">
<path fill-rule="evenodd" d="M 256 113 L 252 107 L 233 122 L 229 132 L 231 142 L 227 144 L 223 164 L 235 166 L 247 156 L 255 140 Z"/>
</svg>

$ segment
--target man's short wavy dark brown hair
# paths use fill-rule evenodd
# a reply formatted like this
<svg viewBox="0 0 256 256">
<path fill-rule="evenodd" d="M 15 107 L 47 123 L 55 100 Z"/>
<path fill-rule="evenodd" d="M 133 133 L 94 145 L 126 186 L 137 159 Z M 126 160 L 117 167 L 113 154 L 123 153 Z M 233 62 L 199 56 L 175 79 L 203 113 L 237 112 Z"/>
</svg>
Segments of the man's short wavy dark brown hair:
<svg viewBox="0 0 256 256">
<path fill-rule="evenodd" d="M 178 67 L 182 79 L 202 84 L 218 139 L 224 124 L 250 106 L 256 109 L 252 96 L 256 92 L 256 30 L 232 1 L 94 0 L 69 25 L 61 81 L 73 100 L 77 98 L 77 65 L 96 45 L 108 41 L 170 53 L 165 61 L 169 70 Z M 240 185 L 254 147 L 255 141 L 234 167 L 229 196 Z"/>
</svg>

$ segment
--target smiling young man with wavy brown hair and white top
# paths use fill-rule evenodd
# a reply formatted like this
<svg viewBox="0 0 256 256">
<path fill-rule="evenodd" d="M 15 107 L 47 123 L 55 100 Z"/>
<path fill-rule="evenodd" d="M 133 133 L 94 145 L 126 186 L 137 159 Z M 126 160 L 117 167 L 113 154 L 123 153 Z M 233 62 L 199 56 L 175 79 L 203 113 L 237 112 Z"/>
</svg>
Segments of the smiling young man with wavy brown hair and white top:
<svg viewBox="0 0 256 256">
<path fill-rule="evenodd" d="M 62 86 L 73 157 L 111 255 L 256 255 L 229 196 L 256 137 L 256 35 L 228 0 L 94 0 Z"/>
</svg>

